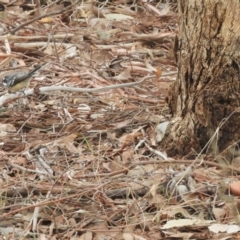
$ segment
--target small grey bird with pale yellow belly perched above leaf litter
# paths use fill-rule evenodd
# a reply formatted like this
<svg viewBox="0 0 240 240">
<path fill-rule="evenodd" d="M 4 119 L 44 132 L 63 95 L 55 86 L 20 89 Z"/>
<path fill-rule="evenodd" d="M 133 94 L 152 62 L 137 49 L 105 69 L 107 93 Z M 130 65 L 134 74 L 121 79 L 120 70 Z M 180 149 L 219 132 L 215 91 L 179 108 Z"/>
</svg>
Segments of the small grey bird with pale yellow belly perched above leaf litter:
<svg viewBox="0 0 240 240">
<path fill-rule="evenodd" d="M 15 72 L 4 76 L 2 79 L 3 86 L 8 88 L 8 91 L 11 93 L 26 89 L 30 84 L 34 73 L 42 68 L 45 64 L 46 63 L 39 65 L 29 72 Z"/>
</svg>

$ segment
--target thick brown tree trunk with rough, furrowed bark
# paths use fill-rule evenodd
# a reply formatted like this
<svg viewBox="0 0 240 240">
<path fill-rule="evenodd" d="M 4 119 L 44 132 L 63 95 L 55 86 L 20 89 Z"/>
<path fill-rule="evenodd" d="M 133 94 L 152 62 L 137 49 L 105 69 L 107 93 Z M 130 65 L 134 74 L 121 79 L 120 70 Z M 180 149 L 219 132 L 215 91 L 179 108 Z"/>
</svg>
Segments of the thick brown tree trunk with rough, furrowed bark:
<svg viewBox="0 0 240 240">
<path fill-rule="evenodd" d="M 162 146 L 170 156 L 222 151 L 240 139 L 240 2 L 179 0 L 178 9 L 179 72 Z"/>
</svg>

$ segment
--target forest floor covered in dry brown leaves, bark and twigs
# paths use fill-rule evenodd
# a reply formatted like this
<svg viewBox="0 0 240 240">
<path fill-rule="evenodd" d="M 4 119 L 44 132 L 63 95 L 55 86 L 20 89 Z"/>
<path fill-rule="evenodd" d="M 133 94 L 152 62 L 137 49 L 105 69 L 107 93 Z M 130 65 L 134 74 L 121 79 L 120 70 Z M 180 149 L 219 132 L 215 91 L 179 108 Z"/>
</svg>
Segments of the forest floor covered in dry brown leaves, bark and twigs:
<svg viewBox="0 0 240 240">
<path fill-rule="evenodd" d="M 225 187 L 236 165 L 168 158 L 156 140 L 177 77 L 176 1 L 1 7 L 1 76 L 47 64 L 33 94 L 1 86 L 0 239 L 239 238 Z"/>
</svg>

